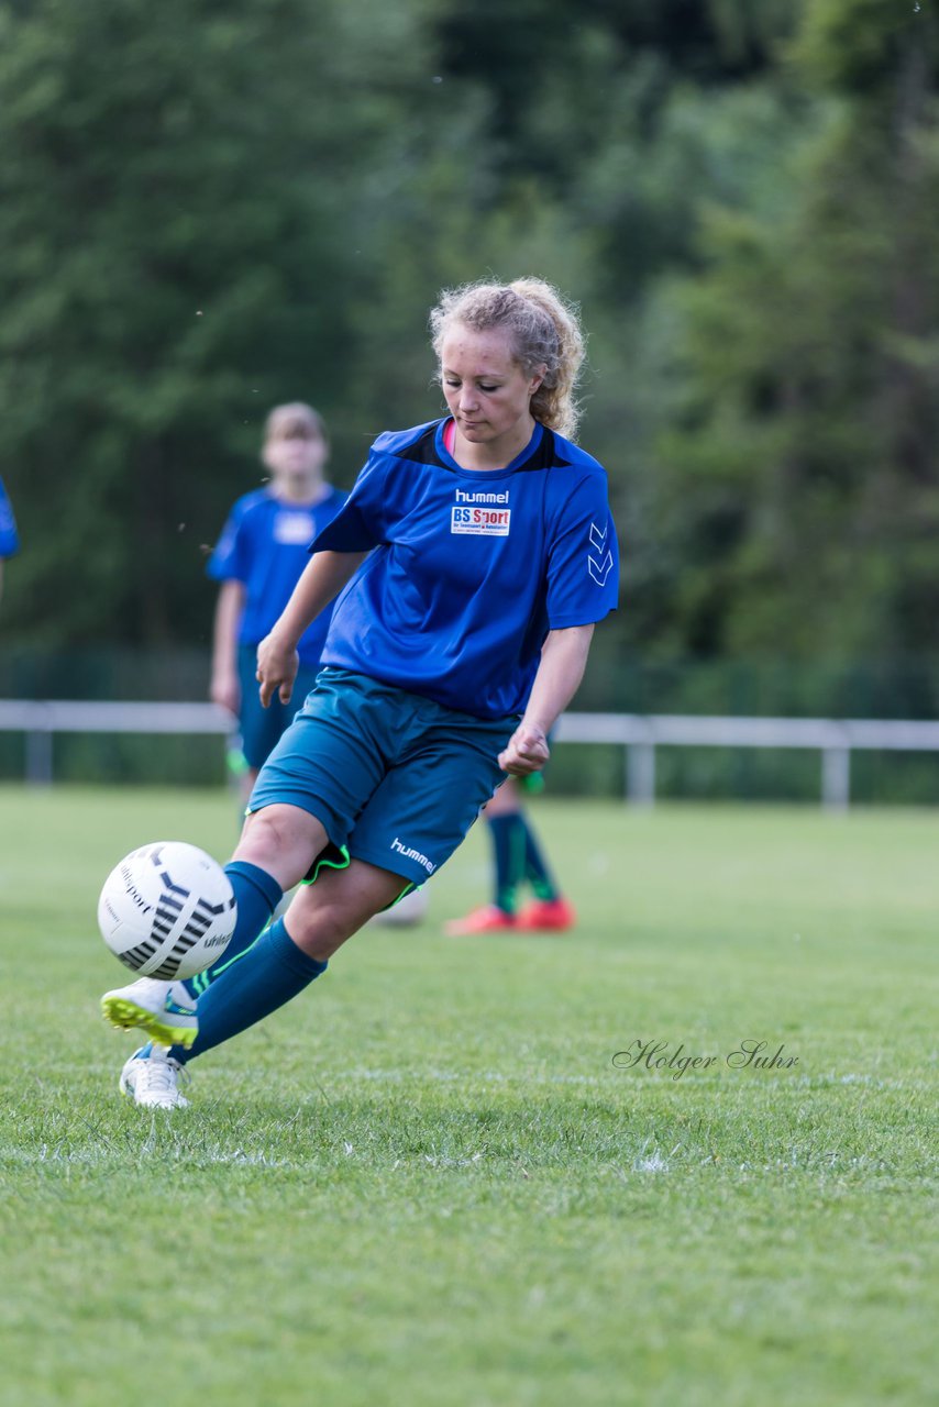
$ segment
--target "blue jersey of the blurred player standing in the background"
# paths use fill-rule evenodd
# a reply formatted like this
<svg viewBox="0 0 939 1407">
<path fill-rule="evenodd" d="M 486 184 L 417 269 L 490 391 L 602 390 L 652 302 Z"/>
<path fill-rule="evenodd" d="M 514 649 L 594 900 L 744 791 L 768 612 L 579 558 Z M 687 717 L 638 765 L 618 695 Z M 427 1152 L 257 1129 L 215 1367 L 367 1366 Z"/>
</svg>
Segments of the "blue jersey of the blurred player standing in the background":
<svg viewBox="0 0 939 1407">
<path fill-rule="evenodd" d="M 245 587 L 239 644 L 258 644 L 267 635 L 307 566 L 310 539 L 344 502 L 345 494 L 335 488 L 313 507 L 283 502 L 269 488 L 238 499 L 207 570 L 215 581 L 241 581 Z M 304 632 L 298 646 L 303 664 L 320 663 L 328 626 L 329 612 L 324 611 Z"/>
</svg>

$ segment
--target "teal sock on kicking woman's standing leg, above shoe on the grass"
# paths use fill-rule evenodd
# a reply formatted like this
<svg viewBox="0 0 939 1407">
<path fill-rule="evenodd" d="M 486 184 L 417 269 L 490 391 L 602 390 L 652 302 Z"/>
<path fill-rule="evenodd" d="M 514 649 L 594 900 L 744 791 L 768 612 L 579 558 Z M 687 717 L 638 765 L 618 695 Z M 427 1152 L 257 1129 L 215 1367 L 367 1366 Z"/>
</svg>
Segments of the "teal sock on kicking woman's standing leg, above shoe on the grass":
<svg viewBox="0 0 939 1407">
<path fill-rule="evenodd" d="M 283 919 L 277 919 L 201 993 L 196 1006 L 198 1036 L 190 1050 L 173 1045 L 170 1055 L 184 1065 L 229 1041 L 298 996 L 325 969 L 325 962 L 307 957 L 297 947 Z"/>
</svg>

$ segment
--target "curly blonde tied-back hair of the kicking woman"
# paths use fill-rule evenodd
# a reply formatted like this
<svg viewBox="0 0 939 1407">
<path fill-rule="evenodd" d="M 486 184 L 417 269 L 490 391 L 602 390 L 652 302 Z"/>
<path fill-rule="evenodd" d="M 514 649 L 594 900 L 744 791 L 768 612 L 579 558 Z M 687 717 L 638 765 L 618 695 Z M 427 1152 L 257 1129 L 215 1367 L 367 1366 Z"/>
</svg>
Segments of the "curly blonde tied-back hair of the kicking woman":
<svg viewBox="0 0 939 1407">
<path fill-rule="evenodd" d="M 476 332 L 507 328 L 514 359 L 525 376 L 545 367 L 543 380 L 532 395 L 532 415 L 559 435 L 574 439 L 580 419 L 574 391 L 584 360 L 584 335 L 577 307 L 556 288 L 542 279 L 445 288 L 429 322 L 438 360 L 443 339 L 458 322 Z"/>
</svg>

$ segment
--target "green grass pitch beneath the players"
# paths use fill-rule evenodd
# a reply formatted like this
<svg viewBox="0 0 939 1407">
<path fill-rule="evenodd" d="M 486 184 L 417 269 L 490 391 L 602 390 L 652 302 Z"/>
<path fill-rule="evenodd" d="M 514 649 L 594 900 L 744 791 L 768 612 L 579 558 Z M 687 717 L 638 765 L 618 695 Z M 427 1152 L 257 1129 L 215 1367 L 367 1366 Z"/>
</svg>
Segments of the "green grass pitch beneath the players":
<svg viewBox="0 0 939 1407">
<path fill-rule="evenodd" d="M 441 936 L 477 832 L 146 1114 L 97 889 L 232 801 L 0 789 L 3 1407 L 935 1400 L 939 816 L 535 816 L 574 934 Z"/>
</svg>

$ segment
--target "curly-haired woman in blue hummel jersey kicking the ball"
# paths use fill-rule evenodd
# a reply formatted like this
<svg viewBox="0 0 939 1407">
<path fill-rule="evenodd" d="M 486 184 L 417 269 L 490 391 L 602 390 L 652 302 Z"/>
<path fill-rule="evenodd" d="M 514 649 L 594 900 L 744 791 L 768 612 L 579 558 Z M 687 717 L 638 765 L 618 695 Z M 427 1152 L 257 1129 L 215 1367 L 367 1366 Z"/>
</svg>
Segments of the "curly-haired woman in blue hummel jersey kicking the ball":
<svg viewBox="0 0 939 1407">
<path fill-rule="evenodd" d="M 507 774 L 545 765 L 594 623 L 615 608 L 605 474 L 570 438 L 573 310 L 539 280 L 481 283 L 445 293 L 431 329 L 449 415 L 379 436 L 258 650 L 262 704 L 289 701 L 297 640 L 338 595 L 325 668 L 260 770 L 227 867 L 231 946 L 189 1029 L 182 983 L 166 1003 L 146 979 L 104 1002 L 153 1041 L 121 1072 L 138 1104 L 187 1103 L 190 1059 L 301 992 L 439 870 Z M 155 1044 L 179 1030 L 191 1044 Z"/>
</svg>

